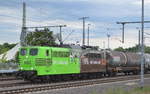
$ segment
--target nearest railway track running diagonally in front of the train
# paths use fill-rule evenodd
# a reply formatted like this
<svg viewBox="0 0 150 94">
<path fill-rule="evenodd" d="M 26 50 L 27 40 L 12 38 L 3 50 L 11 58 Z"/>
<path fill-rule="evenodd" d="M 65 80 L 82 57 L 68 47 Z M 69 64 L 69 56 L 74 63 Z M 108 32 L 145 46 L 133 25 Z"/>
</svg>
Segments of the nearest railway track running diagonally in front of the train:
<svg viewBox="0 0 150 94">
<path fill-rule="evenodd" d="M 145 75 L 145 77 L 150 78 L 150 75 L 149 74 Z M 87 85 L 117 82 L 117 81 L 134 80 L 138 78 L 140 78 L 139 75 L 134 75 L 134 76 L 62 82 L 62 83 L 53 83 L 53 84 L 41 84 L 41 85 L 32 85 L 32 86 L 29 85 L 27 87 L 3 89 L 3 90 L 0 90 L 0 94 L 22 94 L 22 93 L 29 93 L 29 92 L 44 91 L 44 90 L 53 90 L 53 89 L 71 88 L 71 87 L 87 86 Z"/>
</svg>

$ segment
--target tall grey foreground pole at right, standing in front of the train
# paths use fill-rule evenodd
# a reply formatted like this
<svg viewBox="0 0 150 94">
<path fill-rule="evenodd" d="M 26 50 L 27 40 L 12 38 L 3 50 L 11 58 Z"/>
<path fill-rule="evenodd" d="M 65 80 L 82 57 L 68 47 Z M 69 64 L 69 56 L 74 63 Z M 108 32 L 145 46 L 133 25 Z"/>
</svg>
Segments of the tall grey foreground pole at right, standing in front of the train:
<svg viewBox="0 0 150 94">
<path fill-rule="evenodd" d="M 144 87 L 144 0 L 142 0 L 142 16 L 141 16 L 141 88 Z"/>
</svg>

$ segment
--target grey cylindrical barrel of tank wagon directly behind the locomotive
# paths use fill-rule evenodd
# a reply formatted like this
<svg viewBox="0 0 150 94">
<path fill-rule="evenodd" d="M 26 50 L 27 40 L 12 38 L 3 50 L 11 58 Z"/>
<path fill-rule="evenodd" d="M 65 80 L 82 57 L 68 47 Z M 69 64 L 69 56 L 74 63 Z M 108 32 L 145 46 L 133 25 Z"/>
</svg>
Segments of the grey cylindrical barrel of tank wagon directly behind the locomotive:
<svg viewBox="0 0 150 94">
<path fill-rule="evenodd" d="M 131 67 L 140 65 L 140 54 L 111 51 L 107 54 L 108 63 L 115 67 Z"/>
</svg>

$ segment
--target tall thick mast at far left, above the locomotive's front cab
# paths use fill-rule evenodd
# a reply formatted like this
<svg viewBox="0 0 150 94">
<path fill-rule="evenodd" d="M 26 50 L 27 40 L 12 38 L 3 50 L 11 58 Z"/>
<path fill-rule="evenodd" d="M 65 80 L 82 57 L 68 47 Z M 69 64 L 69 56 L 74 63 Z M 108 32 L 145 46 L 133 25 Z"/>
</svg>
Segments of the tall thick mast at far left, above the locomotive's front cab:
<svg viewBox="0 0 150 94">
<path fill-rule="evenodd" d="M 21 46 L 26 46 L 25 37 L 26 37 L 26 3 L 23 2 L 22 31 L 20 36 Z"/>
</svg>

